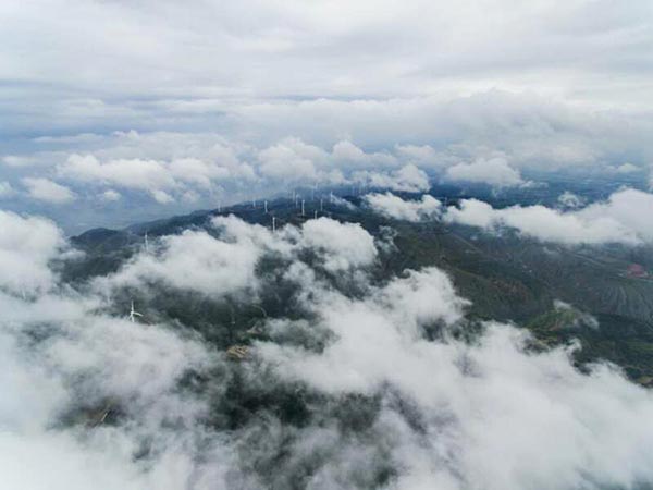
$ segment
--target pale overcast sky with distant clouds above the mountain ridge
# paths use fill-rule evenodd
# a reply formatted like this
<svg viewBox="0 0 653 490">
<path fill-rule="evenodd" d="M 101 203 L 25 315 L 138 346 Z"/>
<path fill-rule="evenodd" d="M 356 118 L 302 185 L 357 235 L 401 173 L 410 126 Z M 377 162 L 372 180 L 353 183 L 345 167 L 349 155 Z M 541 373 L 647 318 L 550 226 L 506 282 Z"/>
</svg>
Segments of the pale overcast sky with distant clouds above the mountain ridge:
<svg viewBox="0 0 653 490">
<path fill-rule="evenodd" d="M 1 204 L 82 231 L 407 164 L 648 183 L 652 23 L 639 0 L 9 0 Z"/>
</svg>

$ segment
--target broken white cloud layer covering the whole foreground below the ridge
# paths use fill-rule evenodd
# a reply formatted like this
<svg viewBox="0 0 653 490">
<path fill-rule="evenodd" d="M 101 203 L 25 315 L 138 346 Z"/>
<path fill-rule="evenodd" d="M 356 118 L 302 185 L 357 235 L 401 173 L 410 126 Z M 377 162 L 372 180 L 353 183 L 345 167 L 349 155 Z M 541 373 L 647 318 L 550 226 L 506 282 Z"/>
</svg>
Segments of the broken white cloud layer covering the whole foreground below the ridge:
<svg viewBox="0 0 653 490">
<path fill-rule="evenodd" d="M 611 203 L 618 207 L 621 198 Z M 61 232 L 37 218 L 2 219 L 15 237 L 4 253 L 20 256 L 30 244 L 24 254 L 38 252 L 45 274 L 64 247 Z M 225 262 L 237 248 L 247 257 Z M 272 233 L 232 217 L 207 232 L 162 237 L 118 273 L 140 278 L 139 287 L 155 295 L 141 278 L 221 301 L 243 286 L 238 278 L 267 287 L 255 264 L 285 261 L 275 287 L 295 284 L 294 314 L 263 318 L 266 336 L 239 363 L 226 362 L 192 322 L 181 329 L 178 320 L 150 316 L 149 324 L 132 323 L 110 314 L 104 296 L 75 292 L 53 272 L 25 299 L 4 284 L 5 481 L 23 489 L 571 489 L 653 481 L 653 431 L 641 422 L 653 416 L 646 390 L 607 365 L 580 372 L 569 350 L 533 351 L 529 335 L 512 326 L 489 322 L 471 342 L 452 335 L 469 327 L 468 302 L 447 275 L 426 268 L 373 283 L 368 274 L 379 253 L 356 224 L 322 218 Z M 190 267 L 206 280 L 184 279 L 188 260 L 201 262 Z M 355 290 L 365 294 L 333 282 L 343 260 L 358 271 Z M 255 408 L 257 396 L 266 399 L 274 393 L 303 406 L 305 422 L 283 418 L 283 409 Z M 256 413 L 222 429 L 244 395 Z M 27 463 L 32 471 L 17 469 Z"/>
</svg>

